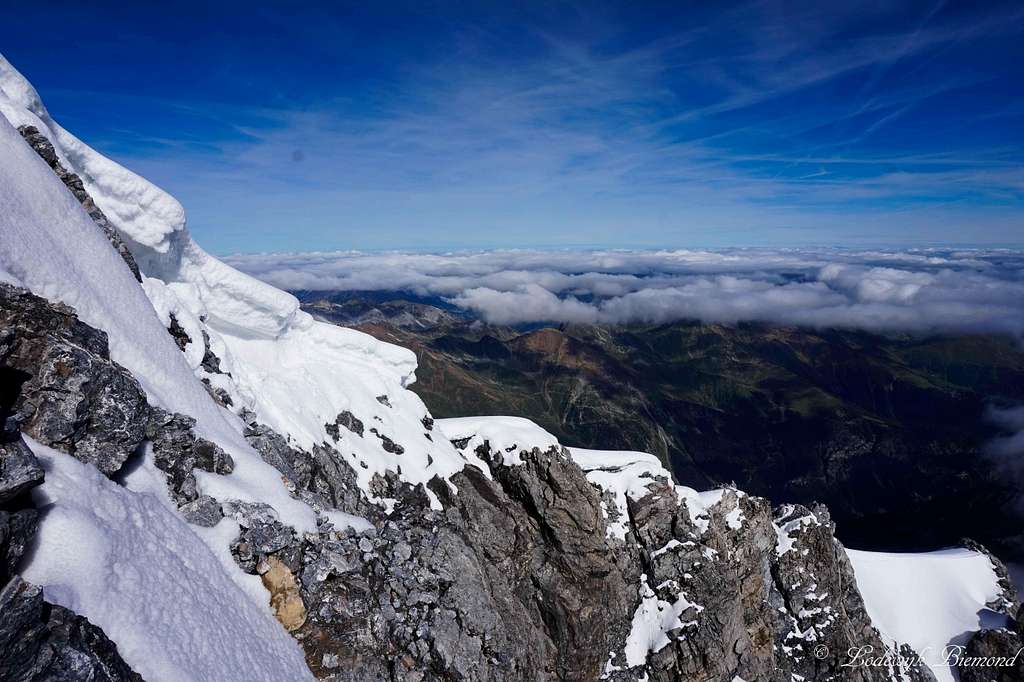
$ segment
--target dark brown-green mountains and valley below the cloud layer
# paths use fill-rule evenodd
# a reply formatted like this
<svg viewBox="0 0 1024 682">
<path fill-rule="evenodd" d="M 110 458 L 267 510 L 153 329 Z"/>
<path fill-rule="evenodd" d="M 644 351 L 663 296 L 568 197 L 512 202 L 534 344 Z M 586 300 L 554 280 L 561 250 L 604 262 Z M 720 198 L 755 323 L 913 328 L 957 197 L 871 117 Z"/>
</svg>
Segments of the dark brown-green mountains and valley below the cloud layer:
<svg viewBox="0 0 1024 682">
<path fill-rule="evenodd" d="M 436 417 L 521 415 L 563 442 L 656 454 L 683 484 L 822 502 L 854 547 L 1021 531 L 984 454 L 992 406 L 1024 401 L 997 336 L 765 325 L 495 327 L 403 292 L 295 292 L 325 321 L 413 349 Z"/>
</svg>

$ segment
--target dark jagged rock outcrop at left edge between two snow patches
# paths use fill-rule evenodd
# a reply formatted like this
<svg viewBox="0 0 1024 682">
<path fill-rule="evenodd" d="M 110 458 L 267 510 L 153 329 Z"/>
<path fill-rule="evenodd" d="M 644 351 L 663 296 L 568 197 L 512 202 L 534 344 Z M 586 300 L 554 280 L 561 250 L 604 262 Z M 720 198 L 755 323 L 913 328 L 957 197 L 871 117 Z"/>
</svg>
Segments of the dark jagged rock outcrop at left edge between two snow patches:
<svg viewBox="0 0 1024 682">
<path fill-rule="evenodd" d="M 106 335 L 70 307 L 6 284 L 0 284 L 0 372 L 27 434 L 108 475 L 144 437 L 145 394 L 110 359 Z"/>
</svg>

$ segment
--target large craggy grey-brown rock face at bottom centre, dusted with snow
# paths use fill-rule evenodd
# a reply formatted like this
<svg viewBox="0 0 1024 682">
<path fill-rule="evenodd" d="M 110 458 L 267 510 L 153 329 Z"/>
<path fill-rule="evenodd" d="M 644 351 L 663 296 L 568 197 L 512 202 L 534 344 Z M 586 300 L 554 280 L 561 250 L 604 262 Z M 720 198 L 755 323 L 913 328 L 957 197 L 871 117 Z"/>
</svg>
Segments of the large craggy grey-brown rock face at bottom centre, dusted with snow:
<svg viewBox="0 0 1024 682">
<path fill-rule="evenodd" d="M 378 493 L 398 502 L 374 529 L 325 524 L 266 555 L 249 543 L 247 570 L 274 557 L 294 573 L 305 613 L 293 634 L 314 675 L 889 679 L 840 668 L 852 646 L 885 646 L 823 508 L 784 507 L 773 523 L 764 500 L 727 491 L 701 529 L 671 483 L 652 480 L 620 541 L 606 534 L 607 496 L 563 453 L 522 452 L 512 467 L 478 454 L 494 463 L 489 477 L 467 468 L 452 479 L 458 494 L 431 483 L 442 511 L 385 478 Z M 677 607 L 678 627 L 637 653 L 637 614 Z M 834 653 L 819 657 L 819 644 Z"/>
</svg>

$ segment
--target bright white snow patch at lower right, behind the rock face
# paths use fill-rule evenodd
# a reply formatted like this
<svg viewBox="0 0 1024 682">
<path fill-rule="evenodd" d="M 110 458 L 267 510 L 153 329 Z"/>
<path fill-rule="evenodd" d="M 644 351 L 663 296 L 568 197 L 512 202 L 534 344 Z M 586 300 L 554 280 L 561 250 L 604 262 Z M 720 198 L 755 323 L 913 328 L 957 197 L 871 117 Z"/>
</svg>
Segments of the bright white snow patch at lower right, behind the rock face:
<svg viewBox="0 0 1024 682">
<path fill-rule="evenodd" d="M 939 682 L 955 680 L 942 665 L 946 646 L 1006 620 L 985 604 L 1000 594 L 992 563 L 956 548 L 920 554 L 847 550 L 867 615 L 886 644 L 909 644 Z"/>
</svg>

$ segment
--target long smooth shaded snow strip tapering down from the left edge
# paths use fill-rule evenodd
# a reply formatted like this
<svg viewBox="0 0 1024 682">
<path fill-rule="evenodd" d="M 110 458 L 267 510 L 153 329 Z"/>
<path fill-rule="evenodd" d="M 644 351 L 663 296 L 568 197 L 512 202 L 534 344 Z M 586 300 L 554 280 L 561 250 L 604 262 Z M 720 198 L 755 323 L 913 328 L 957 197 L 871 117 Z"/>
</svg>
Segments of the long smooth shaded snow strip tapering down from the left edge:
<svg viewBox="0 0 1024 682">
<path fill-rule="evenodd" d="M 0 158 L 0 269 L 33 293 L 71 305 L 83 322 L 106 332 L 111 357 L 139 380 L 152 402 L 195 417 L 197 430 L 234 460 L 234 472 L 217 477 L 229 497 L 266 502 L 296 529 L 315 530 L 313 512 L 289 496 L 281 474 L 242 437 L 241 422 L 218 408 L 196 380 L 105 236 L 4 120 Z"/>
</svg>

